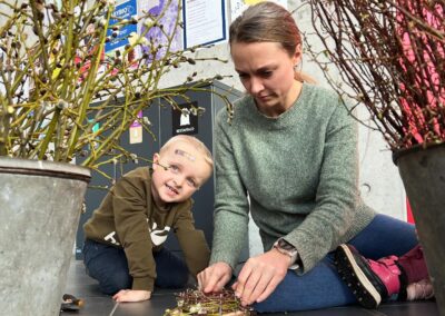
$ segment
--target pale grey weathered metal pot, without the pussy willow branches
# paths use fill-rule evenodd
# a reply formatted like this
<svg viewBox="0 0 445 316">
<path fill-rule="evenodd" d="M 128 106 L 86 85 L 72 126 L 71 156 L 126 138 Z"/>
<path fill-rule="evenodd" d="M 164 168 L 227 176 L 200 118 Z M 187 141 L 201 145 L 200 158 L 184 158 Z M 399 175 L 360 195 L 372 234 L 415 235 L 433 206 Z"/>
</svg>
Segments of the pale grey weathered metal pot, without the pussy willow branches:
<svg viewBox="0 0 445 316">
<path fill-rule="evenodd" d="M 0 158 L 0 314 L 59 315 L 86 168 Z"/>
</svg>

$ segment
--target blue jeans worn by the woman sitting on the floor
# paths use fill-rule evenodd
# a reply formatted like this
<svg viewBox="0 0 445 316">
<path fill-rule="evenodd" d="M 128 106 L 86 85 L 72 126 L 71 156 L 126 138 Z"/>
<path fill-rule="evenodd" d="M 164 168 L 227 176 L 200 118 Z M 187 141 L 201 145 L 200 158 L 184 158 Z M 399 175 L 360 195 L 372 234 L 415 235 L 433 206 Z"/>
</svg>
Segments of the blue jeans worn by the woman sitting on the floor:
<svg viewBox="0 0 445 316">
<path fill-rule="evenodd" d="M 389 255 L 402 256 L 418 241 L 414 225 L 396 218 L 377 215 L 350 245 L 366 258 L 379 259 Z M 275 292 L 254 305 L 259 313 L 296 312 L 355 304 L 355 296 L 339 278 L 334 254 L 329 253 L 310 271 L 298 276 L 288 270 Z"/>
</svg>

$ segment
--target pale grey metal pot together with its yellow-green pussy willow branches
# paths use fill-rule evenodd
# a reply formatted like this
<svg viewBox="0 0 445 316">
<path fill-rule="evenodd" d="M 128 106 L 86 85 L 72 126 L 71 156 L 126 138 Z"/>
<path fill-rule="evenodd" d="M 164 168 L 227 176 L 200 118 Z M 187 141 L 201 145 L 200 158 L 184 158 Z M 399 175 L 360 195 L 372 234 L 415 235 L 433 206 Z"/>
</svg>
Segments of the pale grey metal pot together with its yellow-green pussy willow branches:
<svg viewBox="0 0 445 316">
<path fill-rule="evenodd" d="M 2 313 L 59 314 L 90 169 L 136 158 L 119 139 L 135 120 L 150 130 L 138 113 L 154 100 L 179 108 L 178 97 L 187 101 L 188 91 L 221 78 L 194 72 L 187 85 L 160 86 L 181 63 L 199 61 L 195 48 L 171 47 L 180 3 L 120 19 L 108 0 L 0 1 Z M 136 24 L 142 31 L 122 37 L 123 49 L 103 52 Z"/>
</svg>

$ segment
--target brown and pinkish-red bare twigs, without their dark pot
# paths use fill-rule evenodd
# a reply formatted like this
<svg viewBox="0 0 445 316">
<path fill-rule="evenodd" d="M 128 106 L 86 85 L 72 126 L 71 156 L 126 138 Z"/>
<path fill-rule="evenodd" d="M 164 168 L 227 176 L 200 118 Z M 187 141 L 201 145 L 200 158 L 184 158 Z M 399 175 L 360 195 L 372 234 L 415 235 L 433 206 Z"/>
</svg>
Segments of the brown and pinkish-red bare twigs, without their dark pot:
<svg viewBox="0 0 445 316">
<path fill-rule="evenodd" d="M 308 2 L 325 49 L 309 51 L 336 65 L 347 88 L 328 81 L 366 106 L 389 147 L 444 142 L 445 0 Z"/>
</svg>

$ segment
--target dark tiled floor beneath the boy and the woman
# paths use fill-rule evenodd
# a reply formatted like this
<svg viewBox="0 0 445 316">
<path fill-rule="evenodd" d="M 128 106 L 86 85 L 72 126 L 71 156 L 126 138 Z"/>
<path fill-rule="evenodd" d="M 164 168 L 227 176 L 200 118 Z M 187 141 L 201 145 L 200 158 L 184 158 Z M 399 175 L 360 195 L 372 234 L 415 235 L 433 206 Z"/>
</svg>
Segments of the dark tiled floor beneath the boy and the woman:
<svg viewBox="0 0 445 316">
<path fill-rule="evenodd" d="M 115 303 L 111 297 L 101 294 L 97 283 L 85 274 L 82 261 L 72 263 L 67 282 L 66 293 L 83 298 L 85 306 L 79 312 L 62 312 L 60 315 L 88 316 L 162 316 L 166 308 L 176 306 L 175 290 L 156 290 L 150 300 L 142 303 Z M 285 314 L 268 314 L 285 315 Z M 378 309 L 369 310 L 360 307 L 336 307 L 322 310 L 289 313 L 296 316 L 438 316 L 433 300 L 415 303 L 388 303 Z"/>
</svg>

